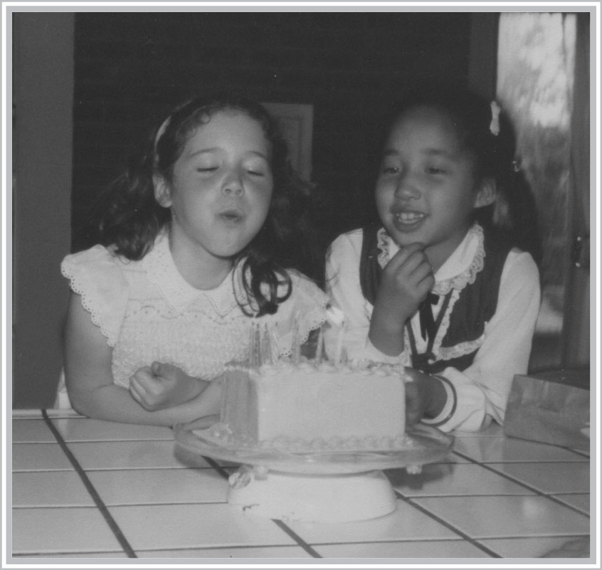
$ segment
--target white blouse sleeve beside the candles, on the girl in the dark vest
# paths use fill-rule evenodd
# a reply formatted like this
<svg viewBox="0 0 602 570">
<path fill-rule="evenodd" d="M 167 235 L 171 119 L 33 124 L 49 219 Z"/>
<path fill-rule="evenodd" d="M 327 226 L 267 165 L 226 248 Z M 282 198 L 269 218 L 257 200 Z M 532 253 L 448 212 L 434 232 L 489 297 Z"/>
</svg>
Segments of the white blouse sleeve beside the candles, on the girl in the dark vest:
<svg viewBox="0 0 602 570">
<path fill-rule="evenodd" d="M 373 306 L 361 292 L 359 259 L 362 233 L 360 230 L 344 233 L 332 242 L 326 258 L 326 290 L 330 304 L 343 312 L 343 332 L 340 327 L 327 327 L 324 343 L 329 358 L 337 352 L 342 334 L 342 346 L 352 360 L 369 360 L 390 364 L 409 365 L 405 352 L 390 357 L 374 347 L 368 333 Z"/>
</svg>

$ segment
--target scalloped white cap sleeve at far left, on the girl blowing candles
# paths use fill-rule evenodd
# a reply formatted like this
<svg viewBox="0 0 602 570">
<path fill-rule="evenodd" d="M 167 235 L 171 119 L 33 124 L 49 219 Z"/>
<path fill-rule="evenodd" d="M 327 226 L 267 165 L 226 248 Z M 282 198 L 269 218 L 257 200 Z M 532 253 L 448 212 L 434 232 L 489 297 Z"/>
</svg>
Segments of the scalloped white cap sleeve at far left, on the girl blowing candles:
<svg viewBox="0 0 602 570">
<path fill-rule="evenodd" d="M 92 322 L 115 346 L 125 316 L 129 287 L 120 260 L 103 246 L 94 246 L 67 255 L 60 265 L 73 292 L 81 295 L 82 305 Z"/>
</svg>

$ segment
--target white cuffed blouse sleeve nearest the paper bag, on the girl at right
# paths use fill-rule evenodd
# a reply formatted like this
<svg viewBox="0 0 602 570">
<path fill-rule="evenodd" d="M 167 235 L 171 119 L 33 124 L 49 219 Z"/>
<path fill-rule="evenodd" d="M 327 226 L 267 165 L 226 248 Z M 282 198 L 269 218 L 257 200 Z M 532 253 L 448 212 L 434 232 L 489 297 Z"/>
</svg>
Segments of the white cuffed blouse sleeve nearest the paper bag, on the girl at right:
<svg viewBox="0 0 602 570">
<path fill-rule="evenodd" d="M 464 371 L 450 367 L 441 373 L 458 398 L 441 430 L 479 431 L 492 419 L 503 423 L 512 379 L 527 372 L 539 302 L 537 265 L 529 253 L 512 250 L 502 270 L 495 315 L 485 326 L 475 360 Z"/>
</svg>

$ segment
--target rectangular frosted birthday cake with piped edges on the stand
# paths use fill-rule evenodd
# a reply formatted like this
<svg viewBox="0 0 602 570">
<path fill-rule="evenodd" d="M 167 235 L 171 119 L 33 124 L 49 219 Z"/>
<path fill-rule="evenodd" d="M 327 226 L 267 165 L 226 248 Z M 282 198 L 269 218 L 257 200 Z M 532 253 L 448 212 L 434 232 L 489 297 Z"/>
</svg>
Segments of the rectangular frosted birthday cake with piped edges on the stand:
<svg viewBox="0 0 602 570">
<path fill-rule="evenodd" d="M 288 452 L 399 449 L 404 382 L 403 366 L 390 364 L 231 364 L 209 433 L 224 445 Z"/>
</svg>

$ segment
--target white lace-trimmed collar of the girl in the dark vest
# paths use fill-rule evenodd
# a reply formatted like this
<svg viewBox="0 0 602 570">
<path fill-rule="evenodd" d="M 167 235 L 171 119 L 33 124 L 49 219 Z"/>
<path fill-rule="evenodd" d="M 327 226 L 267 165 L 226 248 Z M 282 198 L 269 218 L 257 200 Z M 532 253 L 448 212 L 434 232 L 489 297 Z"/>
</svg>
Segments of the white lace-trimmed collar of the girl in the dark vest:
<svg viewBox="0 0 602 570">
<path fill-rule="evenodd" d="M 385 228 L 381 228 L 376 237 L 376 246 L 380 250 L 379 265 L 384 268 L 389 263 L 389 259 L 398 252 L 399 246 L 391 239 Z M 485 260 L 484 241 L 483 229 L 475 222 L 460 245 L 435 273 L 433 293 L 445 295 L 452 289 L 462 290 L 468 283 L 475 283 Z"/>
</svg>

